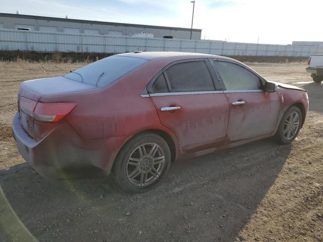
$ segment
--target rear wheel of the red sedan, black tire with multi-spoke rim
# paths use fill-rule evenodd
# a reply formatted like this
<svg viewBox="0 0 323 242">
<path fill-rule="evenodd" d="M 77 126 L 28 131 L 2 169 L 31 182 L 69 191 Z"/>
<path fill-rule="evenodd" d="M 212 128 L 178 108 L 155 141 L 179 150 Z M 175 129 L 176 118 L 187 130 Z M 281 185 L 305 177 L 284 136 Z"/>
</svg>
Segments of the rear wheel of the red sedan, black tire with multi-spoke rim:
<svg viewBox="0 0 323 242">
<path fill-rule="evenodd" d="M 156 147 L 155 156 L 149 156 L 149 152 L 152 151 L 153 147 Z M 143 151 L 143 149 L 145 149 L 145 151 Z M 146 155 L 143 155 L 143 153 L 139 154 L 140 152 L 145 152 Z M 138 157 L 133 158 L 136 155 L 138 155 Z M 163 155 L 165 161 L 163 161 L 164 159 L 159 158 L 163 157 Z M 132 159 L 137 159 L 139 161 L 130 160 L 130 156 Z M 158 161 L 154 161 L 154 159 L 158 158 Z M 155 164 L 155 162 L 159 163 Z M 136 165 L 132 165 L 132 163 L 136 163 Z M 117 184 L 127 192 L 144 193 L 152 189 L 161 178 L 163 178 L 170 167 L 170 163 L 171 151 L 167 142 L 160 136 L 147 132 L 133 137 L 122 147 L 114 162 L 112 174 Z M 161 168 L 161 165 L 163 165 L 163 168 L 160 169 L 160 173 L 158 173 L 157 170 Z M 131 170 L 131 168 L 133 168 L 133 170 Z M 129 177 L 132 173 L 135 175 L 137 172 L 140 173 L 134 178 Z M 142 179 L 141 173 L 144 174 Z M 155 175 L 153 176 L 152 174 Z M 143 179 L 145 179 L 144 183 L 142 182 Z M 149 183 L 147 182 L 148 179 Z"/>
</svg>

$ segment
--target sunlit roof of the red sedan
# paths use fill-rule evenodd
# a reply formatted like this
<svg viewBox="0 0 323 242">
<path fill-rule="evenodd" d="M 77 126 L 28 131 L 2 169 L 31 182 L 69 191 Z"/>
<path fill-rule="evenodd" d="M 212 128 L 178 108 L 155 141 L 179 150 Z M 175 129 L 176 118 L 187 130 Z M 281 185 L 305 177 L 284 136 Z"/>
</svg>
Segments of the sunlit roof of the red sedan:
<svg viewBox="0 0 323 242">
<path fill-rule="evenodd" d="M 226 58 L 231 59 L 229 57 L 213 55 L 213 54 L 202 54 L 202 53 L 188 53 L 188 52 L 171 52 L 171 51 L 154 51 L 154 52 L 131 52 L 131 53 L 122 53 L 117 54 L 118 56 L 128 56 L 128 57 L 136 57 L 143 59 L 156 59 L 156 58 L 167 58 L 167 57 L 178 57 L 178 59 L 183 58 Z"/>
</svg>

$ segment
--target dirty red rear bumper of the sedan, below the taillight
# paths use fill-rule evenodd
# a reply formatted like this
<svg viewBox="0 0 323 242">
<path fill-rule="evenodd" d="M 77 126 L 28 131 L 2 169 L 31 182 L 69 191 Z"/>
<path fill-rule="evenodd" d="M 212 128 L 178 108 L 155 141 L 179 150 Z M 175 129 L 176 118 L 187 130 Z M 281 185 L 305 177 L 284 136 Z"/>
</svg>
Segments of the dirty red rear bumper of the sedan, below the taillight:
<svg viewBox="0 0 323 242">
<path fill-rule="evenodd" d="M 58 179 L 109 175 L 118 151 L 129 138 L 84 140 L 62 120 L 36 141 L 23 130 L 19 113 L 12 128 L 18 151 L 27 163 L 42 176 Z"/>
</svg>

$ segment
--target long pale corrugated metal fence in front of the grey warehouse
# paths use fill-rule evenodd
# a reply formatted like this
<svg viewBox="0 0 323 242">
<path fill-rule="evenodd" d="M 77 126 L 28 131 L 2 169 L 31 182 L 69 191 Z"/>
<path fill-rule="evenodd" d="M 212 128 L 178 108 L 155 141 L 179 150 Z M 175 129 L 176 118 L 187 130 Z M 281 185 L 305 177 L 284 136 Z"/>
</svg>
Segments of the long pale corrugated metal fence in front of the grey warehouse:
<svg viewBox="0 0 323 242">
<path fill-rule="evenodd" d="M 180 51 L 228 56 L 309 56 L 323 54 L 323 47 L 252 44 L 216 40 L 138 38 L 0 29 L 0 50 L 41 52 L 123 53 Z"/>
</svg>

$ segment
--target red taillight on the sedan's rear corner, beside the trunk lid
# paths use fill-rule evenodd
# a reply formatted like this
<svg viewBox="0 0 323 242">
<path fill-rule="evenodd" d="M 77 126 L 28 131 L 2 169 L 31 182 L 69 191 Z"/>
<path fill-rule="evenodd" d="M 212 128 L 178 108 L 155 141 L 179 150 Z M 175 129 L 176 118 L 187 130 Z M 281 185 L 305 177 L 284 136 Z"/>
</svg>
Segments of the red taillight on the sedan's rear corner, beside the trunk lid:
<svg viewBox="0 0 323 242">
<path fill-rule="evenodd" d="M 75 107 L 75 102 L 41 103 L 34 110 L 35 120 L 43 123 L 57 123 L 66 117 Z"/>
</svg>

